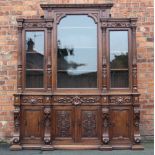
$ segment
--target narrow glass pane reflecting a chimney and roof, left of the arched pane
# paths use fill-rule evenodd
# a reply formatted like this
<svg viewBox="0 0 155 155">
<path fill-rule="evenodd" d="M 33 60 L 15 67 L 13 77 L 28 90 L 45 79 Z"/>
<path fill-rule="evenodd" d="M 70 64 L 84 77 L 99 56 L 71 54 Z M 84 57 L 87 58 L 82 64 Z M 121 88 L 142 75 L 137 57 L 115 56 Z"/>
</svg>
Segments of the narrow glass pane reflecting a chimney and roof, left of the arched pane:
<svg viewBox="0 0 155 155">
<path fill-rule="evenodd" d="M 26 32 L 26 87 L 43 87 L 44 32 Z"/>
</svg>

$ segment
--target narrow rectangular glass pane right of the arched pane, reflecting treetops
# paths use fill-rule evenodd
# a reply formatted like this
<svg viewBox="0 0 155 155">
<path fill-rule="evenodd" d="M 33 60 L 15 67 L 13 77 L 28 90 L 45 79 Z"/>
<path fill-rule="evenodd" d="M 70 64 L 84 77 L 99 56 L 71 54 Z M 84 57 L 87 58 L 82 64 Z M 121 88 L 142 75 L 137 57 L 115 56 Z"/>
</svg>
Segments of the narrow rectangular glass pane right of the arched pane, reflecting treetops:
<svg viewBox="0 0 155 155">
<path fill-rule="evenodd" d="M 128 31 L 110 31 L 111 88 L 129 87 Z"/>
</svg>

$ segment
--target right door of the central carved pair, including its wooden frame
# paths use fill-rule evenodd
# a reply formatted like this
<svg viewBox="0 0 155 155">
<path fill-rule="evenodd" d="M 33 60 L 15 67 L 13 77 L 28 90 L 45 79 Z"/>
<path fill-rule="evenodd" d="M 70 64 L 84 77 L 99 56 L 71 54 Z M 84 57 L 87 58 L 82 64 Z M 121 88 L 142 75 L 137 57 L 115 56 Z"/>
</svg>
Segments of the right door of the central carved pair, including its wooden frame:
<svg viewBox="0 0 155 155">
<path fill-rule="evenodd" d="M 77 109 L 77 142 L 100 139 L 100 108 L 81 106 Z"/>
</svg>

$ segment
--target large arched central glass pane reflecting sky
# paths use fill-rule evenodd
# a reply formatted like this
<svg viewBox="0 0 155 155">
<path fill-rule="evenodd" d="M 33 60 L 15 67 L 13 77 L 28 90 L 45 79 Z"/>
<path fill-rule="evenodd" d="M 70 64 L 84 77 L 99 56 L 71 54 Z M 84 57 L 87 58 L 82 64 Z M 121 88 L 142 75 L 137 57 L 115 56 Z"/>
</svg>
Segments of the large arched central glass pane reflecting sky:
<svg viewBox="0 0 155 155">
<path fill-rule="evenodd" d="M 97 87 L 97 26 L 86 15 L 68 15 L 58 25 L 58 88 Z"/>
</svg>

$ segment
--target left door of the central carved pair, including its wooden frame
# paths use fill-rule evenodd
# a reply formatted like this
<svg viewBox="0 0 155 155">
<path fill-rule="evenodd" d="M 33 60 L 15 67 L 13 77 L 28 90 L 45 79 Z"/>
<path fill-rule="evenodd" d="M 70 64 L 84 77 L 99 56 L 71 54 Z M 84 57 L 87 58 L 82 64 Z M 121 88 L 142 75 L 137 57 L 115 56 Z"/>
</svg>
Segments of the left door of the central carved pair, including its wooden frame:
<svg viewBox="0 0 155 155">
<path fill-rule="evenodd" d="M 53 136 L 55 140 L 74 141 L 74 107 L 55 106 L 53 115 Z"/>
</svg>

